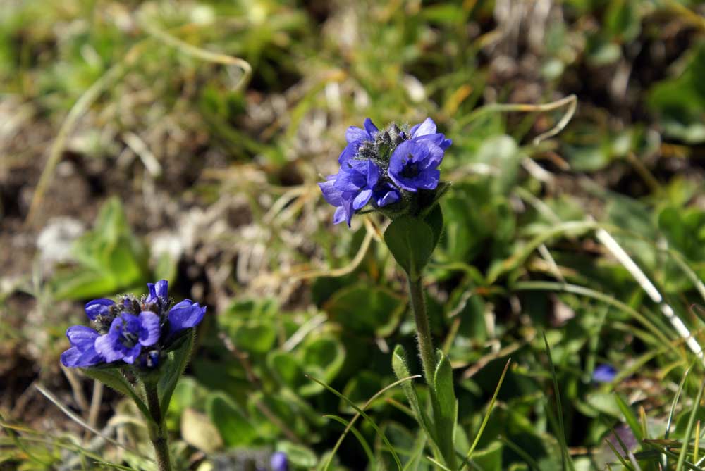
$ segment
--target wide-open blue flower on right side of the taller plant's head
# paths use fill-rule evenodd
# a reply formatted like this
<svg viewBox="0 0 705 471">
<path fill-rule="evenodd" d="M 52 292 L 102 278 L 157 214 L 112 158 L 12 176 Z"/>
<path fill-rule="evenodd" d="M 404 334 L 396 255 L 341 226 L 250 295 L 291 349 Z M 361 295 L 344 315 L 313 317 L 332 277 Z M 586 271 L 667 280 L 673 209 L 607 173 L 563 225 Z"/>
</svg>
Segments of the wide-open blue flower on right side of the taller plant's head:
<svg viewBox="0 0 705 471">
<path fill-rule="evenodd" d="M 442 134 L 441 134 L 442 135 Z M 436 189 L 441 172 L 443 149 L 430 139 L 402 142 L 389 159 L 389 177 L 401 189 Z"/>
</svg>

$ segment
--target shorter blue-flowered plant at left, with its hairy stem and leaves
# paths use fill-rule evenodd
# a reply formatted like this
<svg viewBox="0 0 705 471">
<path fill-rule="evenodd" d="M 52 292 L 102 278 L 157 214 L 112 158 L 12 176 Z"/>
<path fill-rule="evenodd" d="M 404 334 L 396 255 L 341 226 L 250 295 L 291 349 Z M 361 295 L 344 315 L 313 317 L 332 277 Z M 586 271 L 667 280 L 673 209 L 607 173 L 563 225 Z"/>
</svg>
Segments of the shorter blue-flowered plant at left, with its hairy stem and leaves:
<svg viewBox="0 0 705 471">
<path fill-rule="evenodd" d="M 174 304 L 166 280 L 147 287 L 149 294 L 139 298 L 127 294 L 117 303 L 87 303 L 95 329 L 69 327 L 71 348 L 61 354 L 61 363 L 129 396 L 147 421 L 157 470 L 171 471 L 164 419 L 206 308 L 189 299 Z"/>
</svg>

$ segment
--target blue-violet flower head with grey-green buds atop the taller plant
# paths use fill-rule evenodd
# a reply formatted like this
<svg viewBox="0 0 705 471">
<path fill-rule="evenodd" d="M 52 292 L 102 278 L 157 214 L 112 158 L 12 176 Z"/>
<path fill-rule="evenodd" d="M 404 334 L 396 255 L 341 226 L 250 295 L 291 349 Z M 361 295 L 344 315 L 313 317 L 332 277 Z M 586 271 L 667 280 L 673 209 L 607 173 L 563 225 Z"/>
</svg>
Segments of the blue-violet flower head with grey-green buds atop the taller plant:
<svg viewBox="0 0 705 471">
<path fill-rule="evenodd" d="M 408 127 L 392 123 L 379 130 L 372 120 L 363 127 L 348 127 L 338 163 L 340 170 L 319 183 L 324 199 L 336 207 L 333 223 L 347 222 L 368 203 L 384 208 L 408 202 L 419 190 L 434 190 L 443 153 L 453 142 L 436 132 L 436 123 L 426 118 Z"/>
</svg>

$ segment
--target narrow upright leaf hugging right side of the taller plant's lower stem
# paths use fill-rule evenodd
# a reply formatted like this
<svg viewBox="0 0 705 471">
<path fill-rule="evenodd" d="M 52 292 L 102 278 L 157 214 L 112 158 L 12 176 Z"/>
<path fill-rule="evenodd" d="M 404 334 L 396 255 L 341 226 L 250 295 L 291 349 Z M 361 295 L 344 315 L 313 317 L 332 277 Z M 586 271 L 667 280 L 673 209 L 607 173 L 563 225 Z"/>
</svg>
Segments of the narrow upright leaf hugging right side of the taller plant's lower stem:
<svg viewBox="0 0 705 471">
<path fill-rule="evenodd" d="M 446 465 L 455 469 L 455 424 L 458 421 L 458 401 L 453 389 L 453 368 L 443 351 L 436 351 L 434 372 L 434 426 L 438 446 Z"/>
</svg>

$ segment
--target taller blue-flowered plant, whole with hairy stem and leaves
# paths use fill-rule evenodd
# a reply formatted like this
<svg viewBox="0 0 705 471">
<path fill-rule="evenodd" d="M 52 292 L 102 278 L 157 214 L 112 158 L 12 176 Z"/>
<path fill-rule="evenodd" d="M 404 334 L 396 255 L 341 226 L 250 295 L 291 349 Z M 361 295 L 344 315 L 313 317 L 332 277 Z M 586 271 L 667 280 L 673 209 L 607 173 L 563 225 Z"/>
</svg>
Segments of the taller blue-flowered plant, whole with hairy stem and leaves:
<svg viewBox="0 0 705 471">
<path fill-rule="evenodd" d="M 392 123 L 384 130 L 367 118 L 364 128 L 349 127 L 345 138 L 348 145 L 338 158 L 340 170 L 326 177 L 319 187 L 326 201 L 336 206 L 336 224 L 345 221 L 350 227 L 355 213 L 371 211 L 391 219 L 384 241 L 406 273 L 419 355 L 431 397 L 431 416 L 420 403 L 413 384 L 404 382 L 403 388 L 436 459 L 456 470 L 458 403 L 453 371 L 448 357 L 441 350 L 434 351 L 422 286 L 422 272 L 443 230 L 438 200 L 449 184 L 440 180 L 438 168 L 452 141 L 436 132 L 431 118 L 412 127 Z M 400 379 L 409 376 L 402 346 L 395 348 L 392 362 Z"/>
</svg>

